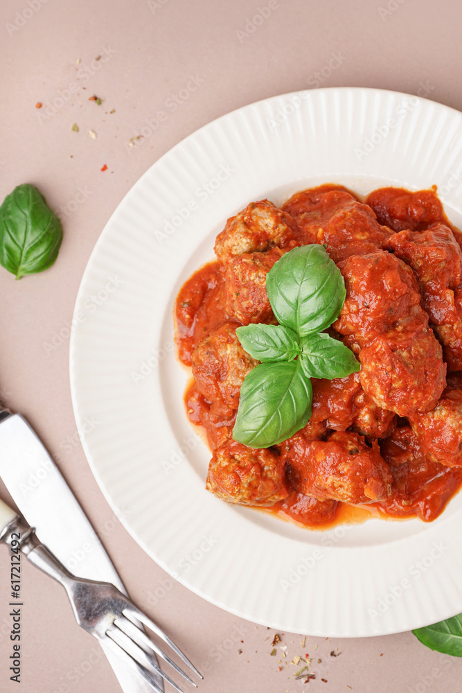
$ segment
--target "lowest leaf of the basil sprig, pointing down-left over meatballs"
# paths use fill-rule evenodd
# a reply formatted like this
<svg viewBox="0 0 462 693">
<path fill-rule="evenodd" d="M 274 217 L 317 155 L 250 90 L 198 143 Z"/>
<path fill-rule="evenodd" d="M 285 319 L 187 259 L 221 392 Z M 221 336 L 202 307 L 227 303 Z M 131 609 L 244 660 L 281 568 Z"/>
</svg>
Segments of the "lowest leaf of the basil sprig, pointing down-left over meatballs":
<svg viewBox="0 0 462 693">
<path fill-rule="evenodd" d="M 301 363 L 260 363 L 240 388 L 233 439 L 250 448 L 269 448 L 290 438 L 311 416 L 312 387 Z"/>
</svg>

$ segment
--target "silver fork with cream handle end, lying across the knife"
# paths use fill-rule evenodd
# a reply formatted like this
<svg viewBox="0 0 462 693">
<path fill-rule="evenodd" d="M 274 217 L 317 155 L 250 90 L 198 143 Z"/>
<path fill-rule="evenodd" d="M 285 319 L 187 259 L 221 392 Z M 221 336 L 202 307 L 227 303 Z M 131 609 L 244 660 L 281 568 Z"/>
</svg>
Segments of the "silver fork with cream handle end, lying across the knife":
<svg viewBox="0 0 462 693">
<path fill-rule="evenodd" d="M 197 687 L 197 685 L 157 644 L 148 638 L 148 635 L 139 627 L 138 622 L 140 621 L 166 642 L 199 678 L 204 678 L 168 635 L 139 608 L 136 608 L 130 599 L 127 599 L 109 582 L 86 580 L 69 572 L 56 556 L 39 541 L 35 535 L 35 529 L 30 527 L 23 518 L 20 518 L 1 500 L 0 541 L 9 545 L 12 553 L 17 554 L 21 551 L 27 556 L 30 563 L 62 584 L 79 626 L 94 635 L 97 640 L 104 640 L 105 644 L 132 665 L 157 693 L 163 693 L 163 690 L 152 679 L 153 673 L 162 676 L 179 693 L 182 691 L 175 681 L 172 681 L 170 676 L 167 676 L 152 659 L 151 652 L 155 652 L 193 686 Z"/>
</svg>

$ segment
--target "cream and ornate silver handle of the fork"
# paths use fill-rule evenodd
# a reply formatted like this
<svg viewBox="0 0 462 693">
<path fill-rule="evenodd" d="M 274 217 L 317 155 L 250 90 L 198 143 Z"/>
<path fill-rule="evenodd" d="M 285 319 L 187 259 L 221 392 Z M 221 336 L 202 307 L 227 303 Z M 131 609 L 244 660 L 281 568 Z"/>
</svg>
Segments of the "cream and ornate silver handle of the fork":
<svg viewBox="0 0 462 693">
<path fill-rule="evenodd" d="M 3 500 L 0 500 L 0 541 L 12 548 L 17 547 L 30 563 L 64 588 L 73 581 L 73 574 L 37 539 L 35 528 L 30 527 Z"/>
</svg>

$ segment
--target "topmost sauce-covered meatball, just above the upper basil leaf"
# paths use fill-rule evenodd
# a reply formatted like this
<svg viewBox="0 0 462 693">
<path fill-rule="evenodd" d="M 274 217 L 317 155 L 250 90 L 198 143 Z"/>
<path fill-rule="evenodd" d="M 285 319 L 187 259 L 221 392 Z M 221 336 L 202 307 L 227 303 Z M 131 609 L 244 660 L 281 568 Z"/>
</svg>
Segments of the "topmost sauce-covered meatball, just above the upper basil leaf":
<svg viewBox="0 0 462 693">
<path fill-rule="evenodd" d="M 300 229 L 300 245 L 326 243 L 335 263 L 350 255 L 373 253 L 392 233 L 380 226 L 370 207 L 342 190 L 323 192 L 315 198 L 312 190 L 303 191 L 285 202 L 283 209 Z"/>
</svg>

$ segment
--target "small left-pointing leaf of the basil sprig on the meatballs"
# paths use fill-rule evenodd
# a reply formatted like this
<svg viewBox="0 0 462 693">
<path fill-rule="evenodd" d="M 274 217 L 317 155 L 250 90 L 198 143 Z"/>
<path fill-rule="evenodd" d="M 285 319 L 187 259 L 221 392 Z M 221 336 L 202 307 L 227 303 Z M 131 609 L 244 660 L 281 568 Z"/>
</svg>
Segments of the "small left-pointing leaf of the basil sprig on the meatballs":
<svg viewBox="0 0 462 693">
<path fill-rule="evenodd" d="M 246 325 L 236 335 L 242 349 L 258 361 L 292 361 L 299 353 L 296 334 L 282 325 Z"/>
</svg>

